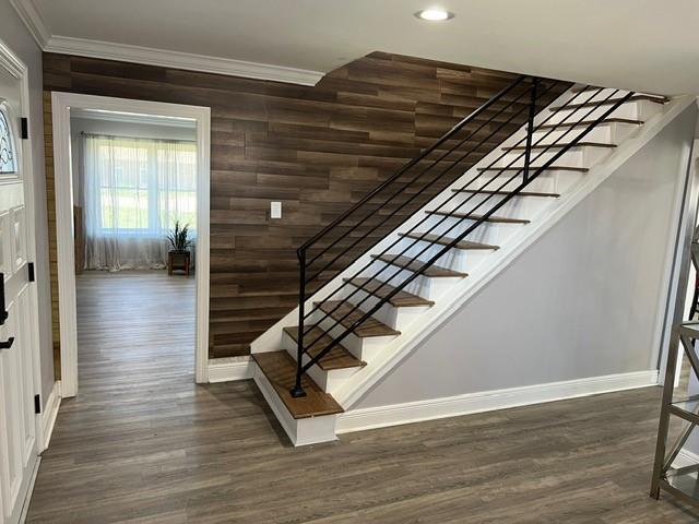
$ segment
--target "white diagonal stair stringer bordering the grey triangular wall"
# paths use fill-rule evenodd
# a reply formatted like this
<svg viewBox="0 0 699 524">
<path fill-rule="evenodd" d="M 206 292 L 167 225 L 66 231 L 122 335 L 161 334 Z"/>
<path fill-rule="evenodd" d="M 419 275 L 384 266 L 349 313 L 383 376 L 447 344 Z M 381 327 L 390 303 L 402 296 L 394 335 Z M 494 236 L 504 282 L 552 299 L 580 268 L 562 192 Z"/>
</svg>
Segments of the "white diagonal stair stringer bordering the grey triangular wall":
<svg viewBox="0 0 699 524">
<path fill-rule="evenodd" d="M 366 392 L 381 378 L 391 372 L 422 341 L 445 324 L 484 286 L 532 246 L 542 235 L 556 225 L 567 213 L 576 207 L 587 195 L 612 176 L 626 160 L 648 144 L 660 131 L 671 123 L 684 109 L 695 103 L 695 97 L 684 96 L 672 99 L 663 111 L 649 119 L 638 133 L 627 139 L 605 160 L 593 166 L 590 171 L 570 190 L 561 194 L 555 203 L 532 224 L 522 228 L 520 235 L 508 240 L 507 246 L 488 258 L 488 264 L 482 264 L 473 273 L 454 286 L 453 293 L 442 295 L 429 311 L 425 312 L 400 337 L 387 344 L 380 355 L 362 373 L 347 379 L 334 398 L 350 413 Z M 467 174 L 466 174 L 467 175 Z M 434 205 L 435 201 L 430 203 Z M 406 224 L 407 225 L 407 224 Z M 406 227 L 401 226 L 401 229 Z"/>
</svg>

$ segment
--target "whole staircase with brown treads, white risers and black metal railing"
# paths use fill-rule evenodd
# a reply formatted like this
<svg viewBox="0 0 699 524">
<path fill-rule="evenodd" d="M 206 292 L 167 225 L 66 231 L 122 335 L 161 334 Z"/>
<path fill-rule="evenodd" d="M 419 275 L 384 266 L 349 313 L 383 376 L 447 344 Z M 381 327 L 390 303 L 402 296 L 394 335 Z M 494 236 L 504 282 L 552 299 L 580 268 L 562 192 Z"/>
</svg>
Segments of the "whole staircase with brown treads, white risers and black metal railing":
<svg viewBox="0 0 699 524">
<path fill-rule="evenodd" d="M 334 440 L 340 414 L 672 106 L 569 86 L 520 76 L 298 249 L 299 306 L 252 346 L 254 380 L 294 444 Z"/>
</svg>

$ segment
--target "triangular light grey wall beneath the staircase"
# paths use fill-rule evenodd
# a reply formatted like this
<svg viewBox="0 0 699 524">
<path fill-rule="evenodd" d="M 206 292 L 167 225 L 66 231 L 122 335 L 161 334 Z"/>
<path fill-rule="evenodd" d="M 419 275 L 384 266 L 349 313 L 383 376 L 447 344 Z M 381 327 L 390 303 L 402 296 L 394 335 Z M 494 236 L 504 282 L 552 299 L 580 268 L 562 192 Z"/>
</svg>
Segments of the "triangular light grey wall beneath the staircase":
<svg viewBox="0 0 699 524">
<path fill-rule="evenodd" d="M 692 104 L 353 408 L 657 369 L 696 119 Z"/>
</svg>

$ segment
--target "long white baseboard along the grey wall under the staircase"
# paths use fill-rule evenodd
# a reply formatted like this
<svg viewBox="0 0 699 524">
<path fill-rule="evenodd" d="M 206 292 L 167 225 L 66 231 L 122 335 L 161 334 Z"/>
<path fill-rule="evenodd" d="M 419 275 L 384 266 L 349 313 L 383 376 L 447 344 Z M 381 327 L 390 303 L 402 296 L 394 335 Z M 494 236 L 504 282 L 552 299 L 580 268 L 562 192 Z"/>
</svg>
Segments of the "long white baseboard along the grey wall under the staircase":
<svg viewBox="0 0 699 524">
<path fill-rule="evenodd" d="M 336 432 L 399 426 L 656 384 L 657 370 L 650 370 L 365 407 L 340 415 Z"/>
</svg>

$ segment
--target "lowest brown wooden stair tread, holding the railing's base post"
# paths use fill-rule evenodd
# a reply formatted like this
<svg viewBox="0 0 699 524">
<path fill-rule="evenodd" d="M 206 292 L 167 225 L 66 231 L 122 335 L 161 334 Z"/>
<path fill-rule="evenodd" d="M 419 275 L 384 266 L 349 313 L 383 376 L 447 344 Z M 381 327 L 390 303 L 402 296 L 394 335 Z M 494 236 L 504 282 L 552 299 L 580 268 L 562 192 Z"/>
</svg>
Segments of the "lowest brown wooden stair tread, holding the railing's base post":
<svg viewBox="0 0 699 524">
<path fill-rule="evenodd" d="M 332 395 L 322 391 L 308 373 L 301 378 L 306 396 L 294 398 L 289 390 L 296 382 L 296 360 L 286 352 L 253 353 L 252 358 L 270 381 L 292 417 L 309 418 L 323 415 L 336 415 L 344 409 Z"/>
</svg>

